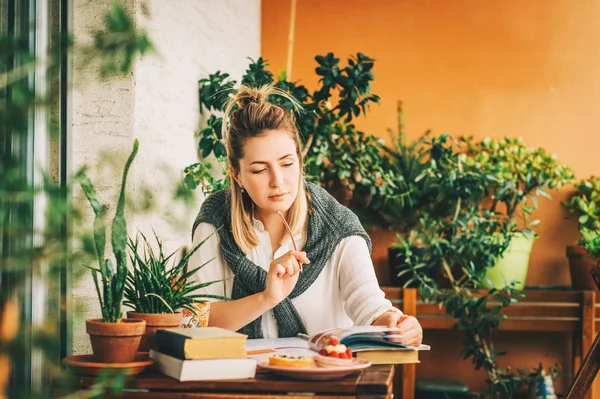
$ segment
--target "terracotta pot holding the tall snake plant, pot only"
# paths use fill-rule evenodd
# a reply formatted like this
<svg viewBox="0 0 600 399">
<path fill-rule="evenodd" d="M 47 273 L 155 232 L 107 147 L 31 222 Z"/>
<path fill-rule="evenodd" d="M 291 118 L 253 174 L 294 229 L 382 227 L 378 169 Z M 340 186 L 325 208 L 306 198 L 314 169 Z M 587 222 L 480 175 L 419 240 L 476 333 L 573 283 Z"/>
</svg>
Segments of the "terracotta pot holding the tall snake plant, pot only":
<svg viewBox="0 0 600 399">
<path fill-rule="evenodd" d="M 92 342 L 94 361 L 129 363 L 138 352 L 146 321 L 121 319 L 118 323 L 105 323 L 102 319 L 89 319 L 85 326 Z"/>
</svg>

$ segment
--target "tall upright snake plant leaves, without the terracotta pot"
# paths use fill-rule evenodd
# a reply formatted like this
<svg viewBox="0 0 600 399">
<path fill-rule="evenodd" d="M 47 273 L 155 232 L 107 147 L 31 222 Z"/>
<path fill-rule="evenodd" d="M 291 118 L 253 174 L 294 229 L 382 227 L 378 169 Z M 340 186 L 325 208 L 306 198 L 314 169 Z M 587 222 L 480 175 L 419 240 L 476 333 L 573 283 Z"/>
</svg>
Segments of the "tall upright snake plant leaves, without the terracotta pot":
<svg viewBox="0 0 600 399">
<path fill-rule="evenodd" d="M 127 182 L 129 168 L 135 159 L 138 148 L 139 142 L 136 139 L 133 143 L 133 150 L 129 154 L 129 158 L 123 169 L 121 192 L 119 194 L 111 232 L 114 260 L 111 258 L 104 258 L 106 247 L 106 226 L 104 225 L 104 216 L 106 207 L 98 201 L 96 189 L 85 171 L 82 170 L 77 176 L 83 192 L 96 215 L 94 218 L 94 242 L 93 244 L 89 242 L 87 244 L 94 246 L 99 267 L 88 267 L 92 270 L 92 277 L 96 286 L 96 292 L 98 293 L 100 309 L 102 310 L 102 320 L 105 323 L 118 323 L 122 316 L 121 304 L 123 302 L 125 283 L 127 281 L 127 223 L 124 215 L 125 184 Z M 100 278 L 100 282 L 98 281 L 98 278 Z M 100 285 L 102 285 L 102 289 L 100 289 Z"/>
</svg>

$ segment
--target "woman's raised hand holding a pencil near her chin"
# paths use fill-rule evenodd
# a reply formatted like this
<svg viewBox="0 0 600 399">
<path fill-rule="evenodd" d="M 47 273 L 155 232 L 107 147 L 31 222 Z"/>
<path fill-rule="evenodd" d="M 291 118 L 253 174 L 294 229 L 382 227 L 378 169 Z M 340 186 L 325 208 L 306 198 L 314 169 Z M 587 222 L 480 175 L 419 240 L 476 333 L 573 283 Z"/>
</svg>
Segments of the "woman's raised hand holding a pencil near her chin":
<svg viewBox="0 0 600 399">
<path fill-rule="evenodd" d="M 279 304 L 290 295 L 300 274 L 300 263 L 308 264 L 306 252 L 291 250 L 273 260 L 267 273 L 267 287 L 263 291 L 265 301 L 271 306 Z"/>
</svg>

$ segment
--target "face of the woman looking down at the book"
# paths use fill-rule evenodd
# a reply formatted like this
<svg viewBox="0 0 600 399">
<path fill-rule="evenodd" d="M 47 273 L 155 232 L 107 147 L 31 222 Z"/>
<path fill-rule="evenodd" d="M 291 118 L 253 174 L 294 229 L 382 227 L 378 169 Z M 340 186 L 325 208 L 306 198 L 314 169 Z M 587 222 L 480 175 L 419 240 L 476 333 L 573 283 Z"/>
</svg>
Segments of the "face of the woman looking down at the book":
<svg viewBox="0 0 600 399">
<path fill-rule="evenodd" d="M 300 182 L 296 143 L 283 130 L 248 139 L 234 177 L 259 211 L 286 212 L 298 195 Z"/>
</svg>

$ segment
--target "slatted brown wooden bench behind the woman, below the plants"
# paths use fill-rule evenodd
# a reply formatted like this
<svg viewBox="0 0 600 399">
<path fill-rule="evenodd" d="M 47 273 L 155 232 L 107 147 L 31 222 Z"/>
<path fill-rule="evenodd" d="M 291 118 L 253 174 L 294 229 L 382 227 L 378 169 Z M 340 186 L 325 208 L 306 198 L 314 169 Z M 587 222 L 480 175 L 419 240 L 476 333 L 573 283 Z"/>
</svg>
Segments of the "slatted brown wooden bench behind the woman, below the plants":
<svg viewBox="0 0 600 399">
<path fill-rule="evenodd" d="M 388 299 L 406 314 L 415 315 L 424 330 L 449 330 L 456 323 L 438 305 L 423 302 L 414 288 L 382 287 Z M 600 296 L 595 291 L 526 290 L 526 296 L 506 308 L 500 331 L 567 332 L 573 335 L 573 372 L 600 329 Z M 402 366 L 402 399 L 413 399 L 416 365 Z M 398 380 L 400 381 L 400 380 Z M 586 399 L 594 398 L 594 386 Z M 396 392 L 399 392 L 397 390 Z"/>
</svg>

